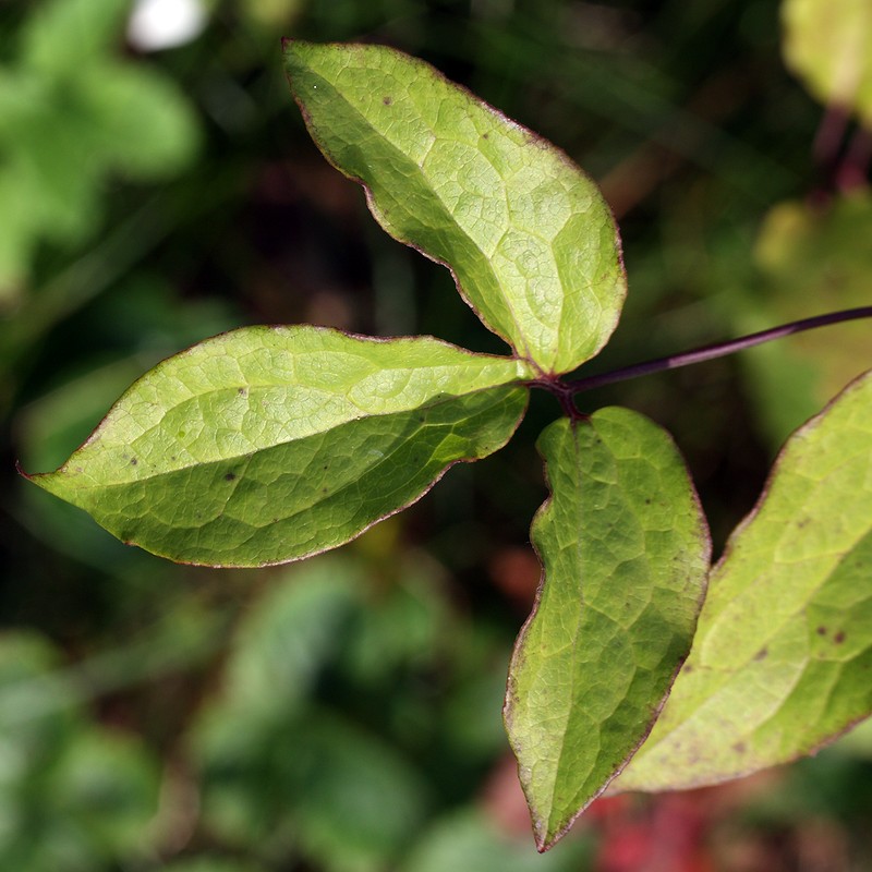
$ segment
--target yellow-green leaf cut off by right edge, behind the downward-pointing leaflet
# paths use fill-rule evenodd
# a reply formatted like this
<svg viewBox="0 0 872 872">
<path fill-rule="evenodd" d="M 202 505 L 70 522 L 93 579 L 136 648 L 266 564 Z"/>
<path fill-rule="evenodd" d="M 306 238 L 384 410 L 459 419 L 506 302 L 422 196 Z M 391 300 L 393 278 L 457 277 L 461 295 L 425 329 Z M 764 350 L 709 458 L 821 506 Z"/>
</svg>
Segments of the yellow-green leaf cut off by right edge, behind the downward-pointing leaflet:
<svg viewBox="0 0 872 872">
<path fill-rule="evenodd" d="M 813 753 L 872 710 L 872 373 L 789 439 L 715 568 L 693 651 L 616 786 Z"/>
</svg>

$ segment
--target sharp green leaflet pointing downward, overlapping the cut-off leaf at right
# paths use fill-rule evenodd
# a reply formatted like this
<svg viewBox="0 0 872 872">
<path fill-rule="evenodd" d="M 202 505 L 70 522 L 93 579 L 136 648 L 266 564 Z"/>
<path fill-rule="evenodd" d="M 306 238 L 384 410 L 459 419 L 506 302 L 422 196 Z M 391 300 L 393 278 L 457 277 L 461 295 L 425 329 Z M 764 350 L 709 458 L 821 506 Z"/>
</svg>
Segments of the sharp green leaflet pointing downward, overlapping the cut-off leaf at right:
<svg viewBox="0 0 872 872">
<path fill-rule="evenodd" d="M 544 573 L 506 726 L 544 850 L 651 729 L 690 650 L 710 541 L 680 455 L 641 415 L 557 421 L 538 447 L 552 489 L 532 529 Z"/>
</svg>

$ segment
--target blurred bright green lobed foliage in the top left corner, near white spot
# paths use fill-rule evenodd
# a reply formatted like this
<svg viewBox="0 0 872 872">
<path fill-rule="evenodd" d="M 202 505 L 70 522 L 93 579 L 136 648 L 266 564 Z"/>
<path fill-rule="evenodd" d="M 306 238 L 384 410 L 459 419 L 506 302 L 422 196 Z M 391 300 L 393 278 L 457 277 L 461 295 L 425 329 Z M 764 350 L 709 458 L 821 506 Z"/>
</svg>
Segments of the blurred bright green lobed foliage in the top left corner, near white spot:
<svg viewBox="0 0 872 872">
<path fill-rule="evenodd" d="M 118 57 L 129 0 L 37 4 L 0 64 L 0 306 L 27 284 L 37 244 L 81 244 L 100 226 L 106 177 L 182 170 L 198 138 L 165 75 Z"/>
</svg>

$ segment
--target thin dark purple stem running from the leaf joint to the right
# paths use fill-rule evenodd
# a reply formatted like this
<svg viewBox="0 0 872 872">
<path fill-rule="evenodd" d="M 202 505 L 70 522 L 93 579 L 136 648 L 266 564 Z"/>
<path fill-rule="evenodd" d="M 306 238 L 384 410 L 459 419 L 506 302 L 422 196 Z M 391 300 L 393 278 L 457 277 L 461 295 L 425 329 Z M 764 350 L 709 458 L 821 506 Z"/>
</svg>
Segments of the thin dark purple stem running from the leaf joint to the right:
<svg viewBox="0 0 872 872">
<path fill-rule="evenodd" d="M 747 348 L 753 348 L 753 346 L 760 346 L 763 342 L 770 342 L 773 339 L 780 339 L 782 337 L 791 336 L 792 334 L 802 332 L 803 330 L 813 330 L 818 327 L 826 327 L 829 324 L 839 324 L 844 320 L 871 317 L 872 306 L 846 308 L 841 312 L 829 312 L 826 315 L 816 315 L 813 318 L 803 318 L 802 320 L 795 320 L 790 324 L 783 324 L 780 327 L 761 330 L 759 334 L 751 334 L 750 336 L 743 336 L 728 342 L 716 342 L 712 346 L 703 346 L 702 348 L 685 351 L 680 354 L 670 354 L 668 358 L 657 358 L 653 361 L 644 361 L 643 363 L 635 363 L 632 366 L 613 370 L 610 373 L 577 378 L 566 382 L 565 385 L 573 395 L 581 393 L 581 391 L 592 390 L 603 385 L 611 385 L 615 382 L 625 382 L 628 378 L 638 378 L 639 376 L 659 373 L 664 370 L 677 370 L 679 366 L 689 366 L 692 363 L 702 363 L 703 361 L 711 361 L 715 358 L 724 358 L 727 354 L 743 351 Z"/>
</svg>

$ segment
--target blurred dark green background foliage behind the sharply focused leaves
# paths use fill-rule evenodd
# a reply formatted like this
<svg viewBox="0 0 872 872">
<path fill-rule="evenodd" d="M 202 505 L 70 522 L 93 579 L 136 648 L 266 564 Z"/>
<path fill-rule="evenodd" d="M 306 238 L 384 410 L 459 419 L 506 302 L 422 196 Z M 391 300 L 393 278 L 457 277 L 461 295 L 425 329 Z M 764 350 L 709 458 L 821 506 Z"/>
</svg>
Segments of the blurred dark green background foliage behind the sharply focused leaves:
<svg viewBox="0 0 872 872">
<path fill-rule="evenodd" d="M 15 474 L 234 326 L 504 350 L 317 154 L 281 36 L 423 57 L 597 180 L 630 277 L 597 372 L 869 304 L 870 19 L 851 0 L 2 0 L 0 867 L 871 868 L 868 726 L 734 785 L 602 800 L 535 855 L 500 705 L 538 580 L 548 397 L 412 510 L 263 571 L 126 548 Z M 719 549 L 784 437 L 872 365 L 869 338 L 834 327 L 584 403 L 674 433 Z"/>
</svg>

